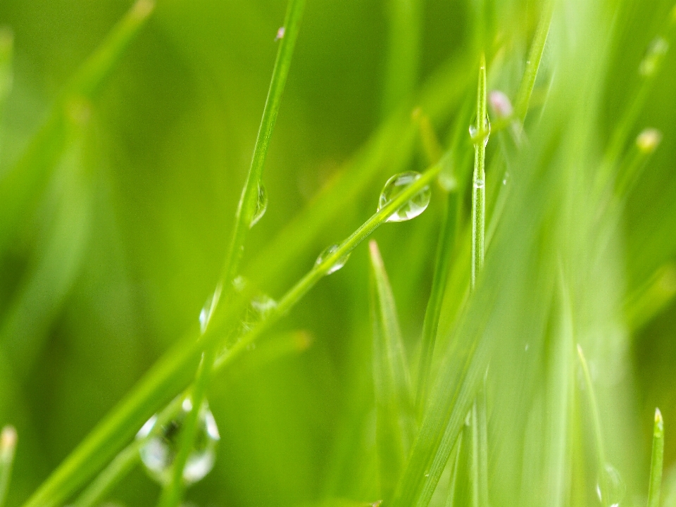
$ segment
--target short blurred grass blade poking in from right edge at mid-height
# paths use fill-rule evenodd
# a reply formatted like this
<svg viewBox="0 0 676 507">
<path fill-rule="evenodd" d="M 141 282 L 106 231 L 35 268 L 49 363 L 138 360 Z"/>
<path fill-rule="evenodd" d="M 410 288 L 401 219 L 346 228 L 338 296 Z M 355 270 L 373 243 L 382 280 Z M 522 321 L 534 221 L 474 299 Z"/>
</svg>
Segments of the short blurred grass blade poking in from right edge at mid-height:
<svg viewBox="0 0 676 507">
<path fill-rule="evenodd" d="M 649 323 L 676 296 L 676 265 L 659 268 L 649 280 L 625 301 L 625 315 L 630 330 L 637 331 Z"/>
</svg>

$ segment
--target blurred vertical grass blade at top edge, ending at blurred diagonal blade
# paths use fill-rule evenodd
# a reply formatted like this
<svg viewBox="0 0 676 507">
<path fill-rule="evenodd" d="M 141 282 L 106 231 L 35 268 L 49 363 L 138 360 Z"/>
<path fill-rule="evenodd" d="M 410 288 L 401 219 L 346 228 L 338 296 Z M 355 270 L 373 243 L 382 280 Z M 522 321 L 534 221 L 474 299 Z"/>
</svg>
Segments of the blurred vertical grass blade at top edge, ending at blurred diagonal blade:
<svg viewBox="0 0 676 507">
<path fill-rule="evenodd" d="M 423 1 L 388 0 L 387 11 L 389 33 L 382 93 L 383 118 L 411 99 L 418 84 Z"/>
</svg>

